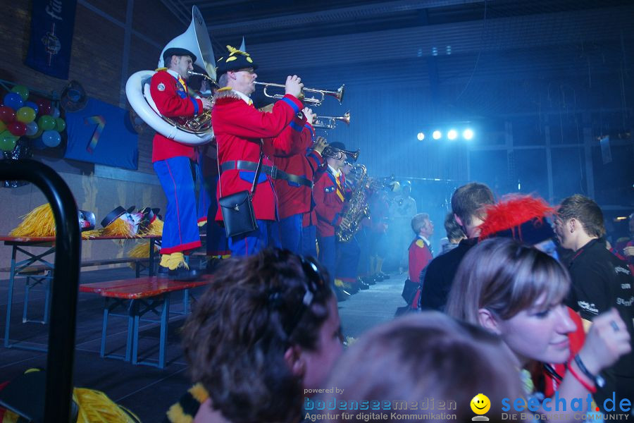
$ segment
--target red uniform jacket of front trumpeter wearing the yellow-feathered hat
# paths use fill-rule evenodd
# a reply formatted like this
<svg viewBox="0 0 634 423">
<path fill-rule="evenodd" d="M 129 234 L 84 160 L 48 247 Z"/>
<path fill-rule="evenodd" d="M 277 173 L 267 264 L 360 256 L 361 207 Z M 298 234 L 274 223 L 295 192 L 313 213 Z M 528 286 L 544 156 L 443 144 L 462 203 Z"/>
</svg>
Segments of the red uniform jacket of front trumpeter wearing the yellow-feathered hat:
<svg viewBox="0 0 634 423">
<path fill-rule="evenodd" d="M 218 142 L 218 164 L 220 167 L 230 161 L 251 161 L 257 164 L 260 158 L 260 145 L 263 151 L 271 149 L 290 151 L 290 131 L 278 137 L 293 121 L 303 105 L 292 95 L 285 95 L 273 106 L 271 113 L 259 111 L 249 106 L 232 90 L 219 90 L 214 96 L 211 111 L 213 133 Z M 302 124 L 303 126 L 303 124 Z M 264 157 L 263 165 L 272 166 L 273 162 Z M 251 190 L 255 176 L 254 171 L 240 171 L 237 169 L 222 171 L 218 190 L 218 198 L 235 192 Z M 253 199 L 256 219 L 276 220 L 277 204 L 271 177 L 260 174 Z M 216 221 L 222 221 L 223 216 L 218 208 Z"/>
</svg>

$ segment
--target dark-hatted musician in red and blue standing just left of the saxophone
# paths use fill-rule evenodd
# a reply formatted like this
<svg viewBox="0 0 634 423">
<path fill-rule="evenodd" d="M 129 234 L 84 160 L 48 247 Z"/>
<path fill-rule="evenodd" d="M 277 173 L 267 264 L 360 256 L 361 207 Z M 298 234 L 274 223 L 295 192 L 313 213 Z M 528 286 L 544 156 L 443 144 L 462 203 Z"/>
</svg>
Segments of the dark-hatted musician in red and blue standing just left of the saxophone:
<svg viewBox="0 0 634 423">
<path fill-rule="evenodd" d="M 337 226 L 342 223 L 342 209 L 346 199 L 346 177 L 341 171 L 346 163 L 345 145 L 342 142 L 332 142 L 330 147 L 340 149 L 341 155 L 337 159 L 327 157 L 328 164 L 325 173 L 313 188 L 315 212 L 317 214 L 317 242 L 319 244 L 319 262 L 328 269 L 330 283 L 337 294 L 337 300 L 343 301 L 349 293 L 335 286 L 335 272 L 337 265 Z"/>
</svg>

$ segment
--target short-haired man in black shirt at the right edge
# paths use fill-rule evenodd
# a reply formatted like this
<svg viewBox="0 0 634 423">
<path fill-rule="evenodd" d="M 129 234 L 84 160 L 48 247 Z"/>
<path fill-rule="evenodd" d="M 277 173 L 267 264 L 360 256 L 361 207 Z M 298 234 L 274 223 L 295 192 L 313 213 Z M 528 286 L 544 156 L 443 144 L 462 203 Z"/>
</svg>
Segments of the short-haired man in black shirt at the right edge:
<svg viewBox="0 0 634 423">
<path fill-rule="evenodd" d="M 573 195 L 561 202 L 554 222 L 554 231 L 564 248 L 575 252 L 569 270 L 572 286 L 566 304 L 579 312 L 588 331 L 592 319 L 614 307 L 619 311 L 634 340 L 634 278 L 628 265 L 607 250 L 600 238 L 605 234 L 603 213 L 596 202 L 583 195 Z M 634 346 L 634 343 L 633 343 Z M 634 349 L 634 348 L 633 348 Z M 605 398 L 616 392 L 616 405 L 621 398 L 634 398 L 634 352 L 604 372 L 607 381 L 595 394 L 603 410 Z"/>
</svg>

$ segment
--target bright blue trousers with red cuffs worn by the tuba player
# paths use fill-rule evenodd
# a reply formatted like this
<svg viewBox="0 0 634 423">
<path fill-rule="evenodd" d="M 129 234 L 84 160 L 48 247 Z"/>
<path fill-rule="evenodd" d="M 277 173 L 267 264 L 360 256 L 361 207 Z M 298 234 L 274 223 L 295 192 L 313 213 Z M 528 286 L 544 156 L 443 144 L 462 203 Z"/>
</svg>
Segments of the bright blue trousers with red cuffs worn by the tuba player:
<svg viewBox="0 0 634 423">
<path fill-rule="evenodd" d="M 196 194 L 189 158 L 172 157 L 155 161 L 154 171 L 167 197 L 161 254 L 200 247 Z"/>
</svg>

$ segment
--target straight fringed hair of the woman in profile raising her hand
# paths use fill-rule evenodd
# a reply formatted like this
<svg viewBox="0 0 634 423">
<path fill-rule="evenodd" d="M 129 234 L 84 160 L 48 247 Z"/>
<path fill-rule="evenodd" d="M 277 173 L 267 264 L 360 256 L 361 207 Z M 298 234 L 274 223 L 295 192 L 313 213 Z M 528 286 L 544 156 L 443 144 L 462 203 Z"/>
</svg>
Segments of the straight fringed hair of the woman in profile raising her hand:
<svg viewBox="0 0 634 423">
<path fill-rule="evenodd" d="M 560 302 L 569 286 L 568 271 L 545 252 L 512 238 L 491 238 L 460 262 L 446 311 L 471 324 L 479 324 L 479 309 L 507 320 L 535 306 L 542 295 L 544 309 Z"/>
</svg>

